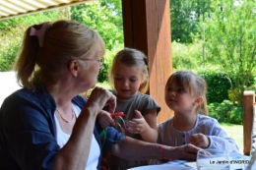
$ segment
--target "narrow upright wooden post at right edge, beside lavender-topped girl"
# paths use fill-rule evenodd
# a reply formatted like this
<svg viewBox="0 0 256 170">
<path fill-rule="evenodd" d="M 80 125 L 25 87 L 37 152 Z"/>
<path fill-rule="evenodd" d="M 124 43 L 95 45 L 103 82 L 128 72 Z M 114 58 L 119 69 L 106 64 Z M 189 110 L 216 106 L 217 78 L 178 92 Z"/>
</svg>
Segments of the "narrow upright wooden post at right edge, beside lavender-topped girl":
<svg viewBox="0 0 256 170">
<path fill-rule="evenodd" d="M 245 155 L 250 155 L 254 103 L 255 92 L 245 90 L 243 92 L 243 153 Z"/>
</svg>

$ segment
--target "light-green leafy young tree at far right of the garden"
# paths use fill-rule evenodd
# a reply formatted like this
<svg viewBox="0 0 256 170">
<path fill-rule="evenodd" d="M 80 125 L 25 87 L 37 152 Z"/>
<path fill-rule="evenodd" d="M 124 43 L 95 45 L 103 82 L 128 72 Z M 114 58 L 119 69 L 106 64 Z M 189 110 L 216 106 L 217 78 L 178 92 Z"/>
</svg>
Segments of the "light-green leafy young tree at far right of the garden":
<svg viewBox="0 0 256 170">
<path fill-rule="evenodd" d="M 226 75 L 233 78 L 231 90 L 240 106 L 256 66 L 256 3 L 223 0 L 214 1 L 212 7 L 212 17 L 201 23 L 205 27 L 207 60 L 221 65 Z"/>
</svg>

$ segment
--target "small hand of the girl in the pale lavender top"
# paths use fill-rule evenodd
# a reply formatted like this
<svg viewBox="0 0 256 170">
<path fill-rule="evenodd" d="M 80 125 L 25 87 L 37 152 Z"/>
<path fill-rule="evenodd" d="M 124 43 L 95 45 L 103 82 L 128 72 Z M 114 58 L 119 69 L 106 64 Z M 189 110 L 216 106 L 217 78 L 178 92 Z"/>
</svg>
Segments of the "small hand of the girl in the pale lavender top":
<svg viewBox="0 0 256 170">
<path fill-rule="evenodd" d="M 198 147 L 203 147 L 203 148 L 209 147 L 209 143 L 210 143 L 209 139 L 203 134 L 194 134 L 189 137 L 188 141 Z"/>
</svg>

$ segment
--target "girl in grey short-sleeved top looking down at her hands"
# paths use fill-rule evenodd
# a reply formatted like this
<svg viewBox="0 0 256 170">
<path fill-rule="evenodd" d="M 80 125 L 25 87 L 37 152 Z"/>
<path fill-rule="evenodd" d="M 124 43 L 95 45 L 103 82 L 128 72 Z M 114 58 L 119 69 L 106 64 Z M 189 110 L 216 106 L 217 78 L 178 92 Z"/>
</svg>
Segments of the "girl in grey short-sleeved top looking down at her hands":
<svg viewBox="0 0 256 170">
<path fill-rule="evenodd" d="M 117 98 L 115 112 L 123 112 L 127 116 L 127 130 L 123 127 L 125 135 L 145 142 L 157 142 L 160 106 L 150 95 L 144 94 L 149 85 L 146 56 L 131 48 L 119 51 L 109 71 L 109 82 Z M 102 128 L 115 124 L 107 112 L 102 111 L 97 118 Z M 111 170 L 148 164 L 147 161 L 128 161 L 113 155 L 107 157 L 107 162 Z"/>
</svg>

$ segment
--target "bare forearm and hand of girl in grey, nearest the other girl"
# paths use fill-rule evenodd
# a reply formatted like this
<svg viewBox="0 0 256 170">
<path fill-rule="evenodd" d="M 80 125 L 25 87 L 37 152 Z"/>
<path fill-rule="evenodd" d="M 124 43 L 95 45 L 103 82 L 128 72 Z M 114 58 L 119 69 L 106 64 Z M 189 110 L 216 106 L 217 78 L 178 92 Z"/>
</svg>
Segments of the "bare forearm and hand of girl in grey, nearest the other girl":
<svg viewBox="0 0 256 170">
<path fill-rule="evenodd" d="M 157 142 L 157 110 L 142 116 L 141 112 L 135 110 L 136 118 L 127 123 L 127 128 L 132 134 L 140 134 L 145 142 Z"/>
</svg>

